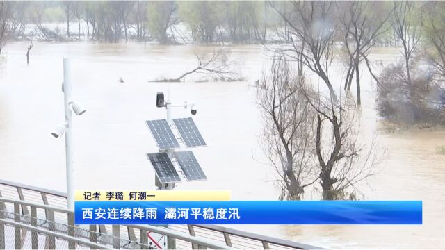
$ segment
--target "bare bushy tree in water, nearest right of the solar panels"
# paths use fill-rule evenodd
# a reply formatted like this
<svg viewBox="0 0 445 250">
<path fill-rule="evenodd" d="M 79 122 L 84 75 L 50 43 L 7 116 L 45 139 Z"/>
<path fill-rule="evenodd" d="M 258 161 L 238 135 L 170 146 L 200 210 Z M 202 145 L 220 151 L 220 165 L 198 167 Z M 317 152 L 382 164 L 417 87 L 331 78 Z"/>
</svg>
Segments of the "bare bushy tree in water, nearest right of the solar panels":
<svg viewBox="0 0 445 250">
<path fill-rule="evenodd" d="M 280 199 L 300 200 L 305 188 L 318 180 L 312 134 L 316 113 L 302 94 L 305 77 L 278 54 L 257 87 L 264 121 L 261 145 L 280 178 Z"/>
</svg>

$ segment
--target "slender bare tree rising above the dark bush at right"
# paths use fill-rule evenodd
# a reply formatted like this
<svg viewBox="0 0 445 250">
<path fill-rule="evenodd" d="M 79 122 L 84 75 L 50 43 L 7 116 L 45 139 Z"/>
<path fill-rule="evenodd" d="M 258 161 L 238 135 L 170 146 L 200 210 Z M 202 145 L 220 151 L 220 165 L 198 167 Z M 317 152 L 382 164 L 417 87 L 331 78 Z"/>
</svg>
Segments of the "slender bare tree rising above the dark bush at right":
<svg viewBox="0 0 445 250">
<path fill-rule="evenodd" d="M 410 60 L 419 44 L 421 38 L 421 18 L 416 19 L 414 11 L 416 3 L 413 1 L 394 1 L 394 23 L 393 28 L 396 37 L 403 46 L 407 83 L 412 84 L 410 74 Z M 420 12 L 421 14 L 421 12 Z"/>
</svg>

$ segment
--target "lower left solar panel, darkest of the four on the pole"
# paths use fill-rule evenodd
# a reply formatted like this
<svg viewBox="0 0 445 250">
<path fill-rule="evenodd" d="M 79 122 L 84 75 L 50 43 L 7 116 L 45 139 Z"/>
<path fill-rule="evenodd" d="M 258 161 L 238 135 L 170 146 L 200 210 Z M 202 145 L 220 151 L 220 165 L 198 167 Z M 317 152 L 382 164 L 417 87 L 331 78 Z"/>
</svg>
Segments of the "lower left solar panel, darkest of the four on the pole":
<svg viewBox="0 0 445 250">
<path fill-rule="evenodd" d="M 175 183 L 181 181 L 181 178 L 179 178 L 167 153 L 147 153 L 147 156 L 161 183 Z"/>
</svg>

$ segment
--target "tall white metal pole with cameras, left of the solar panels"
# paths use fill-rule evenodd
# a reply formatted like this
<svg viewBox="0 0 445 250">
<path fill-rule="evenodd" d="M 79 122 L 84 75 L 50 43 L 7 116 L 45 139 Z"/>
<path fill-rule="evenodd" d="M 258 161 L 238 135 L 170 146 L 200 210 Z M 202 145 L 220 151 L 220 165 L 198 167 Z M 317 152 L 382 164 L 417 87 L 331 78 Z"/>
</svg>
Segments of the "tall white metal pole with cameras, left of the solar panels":
<svg viewBox="0 0 445 250">
<path fill-rule="evenodd" d="M 72 111 L 70 108 L 71 99 L 71 75 L 70 60 L 63 58 L 63 102 L 65 104 L 65 158 L 67 172 L 67 207 L 74 210 L 74 168 L 72 157 Z"/>
</svg>

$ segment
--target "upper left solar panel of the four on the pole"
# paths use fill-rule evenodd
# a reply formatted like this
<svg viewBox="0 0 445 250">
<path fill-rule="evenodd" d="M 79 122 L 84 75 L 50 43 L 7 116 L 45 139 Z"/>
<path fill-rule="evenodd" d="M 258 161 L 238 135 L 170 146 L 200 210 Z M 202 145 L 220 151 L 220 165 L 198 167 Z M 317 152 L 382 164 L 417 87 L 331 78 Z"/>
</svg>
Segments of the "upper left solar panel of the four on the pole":
<svg viewBox="0 0 445 250">
<path fill-rule="evenodd" d="M 159 149 L 176 149 L 179 143 L 165 119 L 146 121 Z"/>
</svg>

